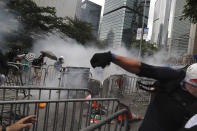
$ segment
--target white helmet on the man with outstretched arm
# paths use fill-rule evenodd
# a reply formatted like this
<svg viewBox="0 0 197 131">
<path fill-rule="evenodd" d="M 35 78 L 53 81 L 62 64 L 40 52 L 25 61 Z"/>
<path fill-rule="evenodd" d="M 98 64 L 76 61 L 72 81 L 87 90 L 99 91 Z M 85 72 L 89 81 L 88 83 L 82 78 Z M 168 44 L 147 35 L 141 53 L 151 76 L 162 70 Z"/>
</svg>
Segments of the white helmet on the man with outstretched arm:
<svg viewBox="0 0 197 131">
<path fill-rule="evenodd" d="M 197 63 L 187 68 L 185 82 L 197 87 Z"/>
</svg>

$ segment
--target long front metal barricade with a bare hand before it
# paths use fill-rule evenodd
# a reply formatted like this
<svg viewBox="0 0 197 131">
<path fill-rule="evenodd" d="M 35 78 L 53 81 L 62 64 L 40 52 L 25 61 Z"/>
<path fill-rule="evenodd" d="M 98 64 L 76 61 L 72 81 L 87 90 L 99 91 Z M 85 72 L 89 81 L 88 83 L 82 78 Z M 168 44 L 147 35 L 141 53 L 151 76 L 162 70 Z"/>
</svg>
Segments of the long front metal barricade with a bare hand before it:
<svg viewBox="0 0 197 131">
<path fill-rule="evenodd" d="M 40 103 L 46 106 L 39 108 Z M 10 125 L 22 117 L 36 115 L 37 121 L 30 131 L 79 131 L 98 122 L 98 119 L 114 114 L 118 104 L 118 99 L 114 98 L 0 101 L 1 125 Z M 4 112 L 7 105 L 10 111 Z M 20 112 L 15 108 L 17 105 L 20 105 Z M 116 125 L 111 124 L 113 129 L 112 126 Z"/>
</svg>

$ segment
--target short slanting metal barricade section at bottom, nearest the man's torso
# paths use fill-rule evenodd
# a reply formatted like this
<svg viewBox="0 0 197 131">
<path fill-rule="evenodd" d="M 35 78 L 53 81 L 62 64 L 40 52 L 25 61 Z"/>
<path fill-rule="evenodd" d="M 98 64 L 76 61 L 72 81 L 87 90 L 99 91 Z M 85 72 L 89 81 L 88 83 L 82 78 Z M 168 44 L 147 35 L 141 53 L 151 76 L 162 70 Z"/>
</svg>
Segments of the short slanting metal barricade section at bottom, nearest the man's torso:
<svg viewBox="0 0 197 131">
<path fill-rule="evenodd" d="M 120 116 L 125 116 L 125 117 L 124 119 L 121 119 L 121 121 L 119 121 L 118 119 Z M 113 131 L 129 131 L 128 122 L 129 122 L 129 111 L 126 109 L 122 109 L 120 111 L 115 112 L 111 116 L 105 118 L 104 120 L 101 120 L 80 131 L 96 131 L 96 130 L 102 131 L 102 130 L 105 130 L 105 125 L 109 125 L 108 131 L 112 131 L 112 130 Z M 115 124 L 113 129 L 110 128 L 109 123 Z"/>
</svg>

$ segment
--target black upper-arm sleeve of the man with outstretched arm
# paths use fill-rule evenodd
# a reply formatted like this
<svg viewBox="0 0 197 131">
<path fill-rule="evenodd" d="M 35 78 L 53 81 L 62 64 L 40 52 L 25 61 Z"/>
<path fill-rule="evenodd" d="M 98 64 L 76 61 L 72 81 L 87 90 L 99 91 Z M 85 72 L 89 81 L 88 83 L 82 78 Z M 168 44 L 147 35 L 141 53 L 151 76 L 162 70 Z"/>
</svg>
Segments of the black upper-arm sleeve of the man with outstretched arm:
<svg viewBox="0 0 197 131">
<path fill-rule="evenodd" d="M 153 78 L 159 81 L 169 81 L 180 77 L 185 77 L 183 70 L 175 70 L 169 67 L 152 66 L 145 63 L 142 63 L 140 72 L 136 75 Z"/>
</svg>

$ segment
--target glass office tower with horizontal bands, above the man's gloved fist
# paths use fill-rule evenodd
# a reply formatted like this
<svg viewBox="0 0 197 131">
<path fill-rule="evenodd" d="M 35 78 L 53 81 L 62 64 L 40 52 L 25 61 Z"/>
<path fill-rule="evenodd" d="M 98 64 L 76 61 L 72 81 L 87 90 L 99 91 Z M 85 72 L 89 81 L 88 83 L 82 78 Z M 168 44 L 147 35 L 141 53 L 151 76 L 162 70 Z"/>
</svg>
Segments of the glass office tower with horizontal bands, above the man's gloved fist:
<svg viewBox="0 0 197 131">
<path fill-rule="evenodd" d="M 131 44 L 137 28 L 142 27 L 144 0 L 105 0 L 100 39 L 107 40 L 113 47 Z M 145 27 L 148 22 L 150 1 L 147 0 Z"/>
</svg>

